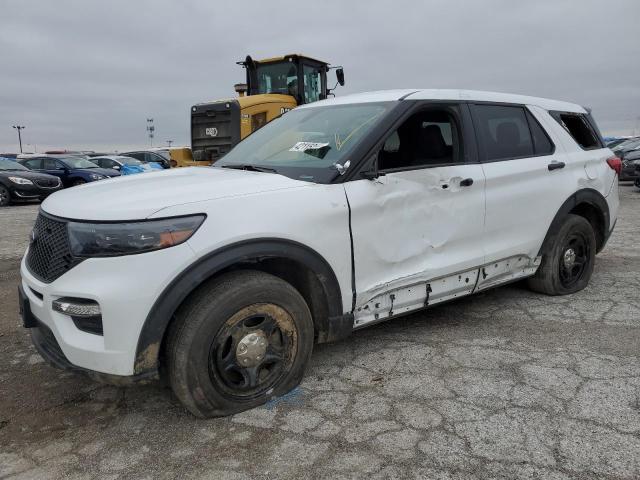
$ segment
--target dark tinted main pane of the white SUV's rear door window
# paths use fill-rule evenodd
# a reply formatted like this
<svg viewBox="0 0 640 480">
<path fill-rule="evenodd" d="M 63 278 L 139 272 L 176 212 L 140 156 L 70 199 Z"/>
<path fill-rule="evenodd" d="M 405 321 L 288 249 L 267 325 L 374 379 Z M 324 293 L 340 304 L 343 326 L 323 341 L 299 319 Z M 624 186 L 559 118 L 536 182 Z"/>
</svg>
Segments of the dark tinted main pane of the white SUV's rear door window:
<svg viewBox="0 0 640 480">
<path fill-rule="evenodd" d="M 531 133 L 522 107 L 476 105 L 474 112 L 487 160 L 534 155 Z"/>
</svg>

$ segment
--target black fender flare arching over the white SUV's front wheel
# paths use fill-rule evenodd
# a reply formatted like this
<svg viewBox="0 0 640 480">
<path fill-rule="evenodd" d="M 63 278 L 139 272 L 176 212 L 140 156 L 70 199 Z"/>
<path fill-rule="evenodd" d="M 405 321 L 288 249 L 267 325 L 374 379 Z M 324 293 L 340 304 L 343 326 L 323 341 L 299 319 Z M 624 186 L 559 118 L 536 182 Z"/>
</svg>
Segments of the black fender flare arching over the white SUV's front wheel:
<svg viewBox="0 0 640 480">
<path fill-rule="evenodd" d="M 211 252 L 178 274 L 158 296 L 147 314 L 136 348 L 134 374 L 156 371 L 160 347 L 174 313 L 199 285 L 216 273 L 239 263 L 257 262 L 268 258 L 283 258 L 304 264 L 315 273 L 327 300 L 329 317 L 316 323 L 325 337 L 338 338 L 335 332 L 351 331 L 353 317 L 344 315 L 338 279 L 329 263 L 315 250 L 298 242 L 265 238 L 234 243 Z M 351 322 L 351 323 L 350 323 Z M 346 332 L 345 332 L 346 333 Z M 346 333 L 348 334 L 348 333 Z"/>
</svg>

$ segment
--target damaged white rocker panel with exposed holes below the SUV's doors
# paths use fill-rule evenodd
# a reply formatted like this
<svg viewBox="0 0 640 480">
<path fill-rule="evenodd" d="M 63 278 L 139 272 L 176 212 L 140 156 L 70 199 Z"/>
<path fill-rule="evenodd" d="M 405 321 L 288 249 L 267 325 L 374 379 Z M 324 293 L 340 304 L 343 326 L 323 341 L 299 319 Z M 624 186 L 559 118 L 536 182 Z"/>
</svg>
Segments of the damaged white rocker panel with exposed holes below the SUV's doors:
<svg viewBox="0 0 640 480">
<path fill-rule="evenodd" d="M 532 259 L 516 255 L 471 270 L 388 290 L 356 308 L 353 328 L 530 277 L 536 273 L 540 261 L 541 257 Z"/>
</svg>

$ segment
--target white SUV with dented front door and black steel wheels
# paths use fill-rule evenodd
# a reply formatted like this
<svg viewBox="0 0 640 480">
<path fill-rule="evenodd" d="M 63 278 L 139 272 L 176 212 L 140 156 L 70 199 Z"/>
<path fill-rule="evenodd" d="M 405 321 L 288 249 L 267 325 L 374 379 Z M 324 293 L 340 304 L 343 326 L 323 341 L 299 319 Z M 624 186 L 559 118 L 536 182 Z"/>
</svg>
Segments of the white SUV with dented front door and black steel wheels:
<svg viewBox="0 0 640 480">
<path fill-rule="evenodd" d="M 620 166 L 571 103 L 316 102 L 213 168 L 48 198 L 22 261 L 23 322 L 55 365 L 162 376 L 195 415 L 238 412 L 297 385 L 315 342 L 523 278 L 584 288 Z"/>
</svg>

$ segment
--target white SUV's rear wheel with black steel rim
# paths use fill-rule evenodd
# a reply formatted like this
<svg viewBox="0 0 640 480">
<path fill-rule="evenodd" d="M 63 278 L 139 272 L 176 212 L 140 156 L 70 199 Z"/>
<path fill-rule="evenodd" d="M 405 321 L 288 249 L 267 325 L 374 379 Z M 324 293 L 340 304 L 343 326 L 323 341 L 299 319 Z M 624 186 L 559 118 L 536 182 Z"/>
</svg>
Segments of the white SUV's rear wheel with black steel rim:
<svg viewBox="0 0 640 480">
<path fill-rule="evenodd" d="M 569 214 L 542 248 L 542 262 L 528 280 L 529 288 L 547 295 L 568 295 L 589 284 L 596 255 L 596 237 L 583 217 Z"/>
</svg>

